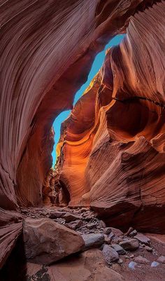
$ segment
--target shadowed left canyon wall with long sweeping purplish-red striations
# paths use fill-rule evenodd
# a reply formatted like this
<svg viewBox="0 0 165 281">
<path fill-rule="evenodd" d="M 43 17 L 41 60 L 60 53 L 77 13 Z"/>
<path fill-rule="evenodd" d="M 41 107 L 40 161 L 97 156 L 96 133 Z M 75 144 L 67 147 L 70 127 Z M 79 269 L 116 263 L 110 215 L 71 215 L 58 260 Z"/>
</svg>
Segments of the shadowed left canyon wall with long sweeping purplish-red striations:
<svg viewBox="0 0 165 281">
<path fill-rule="evenodd" d="M 55 117 L 72 108 L 96 53 L 148 3 L 0 0 L 0 266 L 22 229 L 19 213 L 8 210 L 42 204 Z"/>
</svg>

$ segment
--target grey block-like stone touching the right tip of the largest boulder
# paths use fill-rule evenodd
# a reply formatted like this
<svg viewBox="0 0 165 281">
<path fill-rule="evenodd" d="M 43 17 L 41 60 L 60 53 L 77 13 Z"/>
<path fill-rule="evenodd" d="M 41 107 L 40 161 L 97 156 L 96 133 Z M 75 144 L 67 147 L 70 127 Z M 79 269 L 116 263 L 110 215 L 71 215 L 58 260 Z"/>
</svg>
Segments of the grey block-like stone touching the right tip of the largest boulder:
<svg viewBox="0 0 165 281">
<path fill-rule="evenodd" d="M 104 242 L 103 234 L 83 234 L 82 238 L 85 242 L 84 250 L 87 248 L 95 248 Z"/>
</svg>

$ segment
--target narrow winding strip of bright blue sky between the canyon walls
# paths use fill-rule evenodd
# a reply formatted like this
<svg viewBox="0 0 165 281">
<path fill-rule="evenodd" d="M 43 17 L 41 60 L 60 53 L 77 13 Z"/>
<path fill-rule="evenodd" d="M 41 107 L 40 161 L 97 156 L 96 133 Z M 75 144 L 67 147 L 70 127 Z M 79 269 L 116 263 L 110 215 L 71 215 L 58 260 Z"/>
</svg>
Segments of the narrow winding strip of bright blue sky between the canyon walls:
<svg viewBox="0 0 165 281">
<path fill-rule="evenodd" d="M 85 82 L 85 84 L 83 84 L 80 87 L 80 89 L 76 92 L 73 105 L 76 104 L 76 102 L 82 96 L 82 93 L 85 91 L 85 89 L 87 89 L 87 86 L 89 86 L 90 82 L 92 81 L 92 79 L 94 78 L 96 73 L 98 73 L 98 71 L 101 68 L 101 66 L 103 65 L 103 61 L 104 61 L 104 58 L 106 56 L 106 50 L 108 48 L 110 48 L 110 47 L 118 45 L 123 38 L 124 38 L 124 35 L 117 35 L 117 36 L 115 36 L 106 45 L 104 50 L 99 52 L 99 54 L 96 55 L 96 57 L 94 59 L 94 62 L 92 64 L 92 68 L 91 68 L 91 70 L 89 72 L 89 75 L 87 77 L 87 82 Z M 59 114 L 59 116 L 57 116 L 57 118 L 55 119 L 55 121 L 53 123 L 53 128 L 55 130 L 55 145 L 54 145 L 54 149 L 52 151 L 52 158 L 53 158 L 52 167 L 55 166 L 55 162 L 56 162 L 56 158 L 57 158 L 57 156 L 56 156 L 56 146 L 57 146 L 57 143 L 59 142 L 61 124 L 69 116 L 70 113 L 71 113 L 71 110 L 67 110 L 67 111 L 61 112 Z"/>
</svg>

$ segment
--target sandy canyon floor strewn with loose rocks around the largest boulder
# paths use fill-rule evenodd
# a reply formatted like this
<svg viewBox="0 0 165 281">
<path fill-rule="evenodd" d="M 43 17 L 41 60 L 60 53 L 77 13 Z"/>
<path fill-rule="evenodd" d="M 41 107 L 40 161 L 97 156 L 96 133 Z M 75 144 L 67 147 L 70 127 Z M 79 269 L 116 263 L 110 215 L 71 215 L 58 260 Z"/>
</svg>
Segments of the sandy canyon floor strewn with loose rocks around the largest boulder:
<svg viewBox="0 0 165 281">
<path fill-rule="evenodd" d="M 140 234 L 132 228 L 123 233 L 106 227 L 89 208 L 22 208 L 20 211 L 24 221 L 36 223 L 49 219 L 76 231 L 85 240 L 85 246 L 80 252 L 50 265 L 26 260 L 22 275 L 16 279 L 14 275 L 8 279 L 7 263 L 2 281 L 165 280 L 165 235 Z M 17 255 L 13 253 L 14 259 Z M 19 264 L 19 260 L 17 262 Z"/>
</svg>

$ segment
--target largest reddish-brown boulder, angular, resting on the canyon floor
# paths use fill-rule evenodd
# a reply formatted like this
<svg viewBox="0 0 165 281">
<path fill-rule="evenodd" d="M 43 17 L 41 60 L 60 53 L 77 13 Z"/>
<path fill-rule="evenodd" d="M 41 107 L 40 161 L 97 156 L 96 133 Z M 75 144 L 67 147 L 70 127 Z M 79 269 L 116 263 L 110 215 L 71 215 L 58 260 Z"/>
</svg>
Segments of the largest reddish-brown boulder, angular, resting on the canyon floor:
<svg viewBox="0 0 165 281">
<path fill-rule="evenodd" d="M 36 264 L 52 264 L 82 250 L 80 235 L 48 218 L 24 220 L 24 250 L 27 259 Z"/>
</svg>

